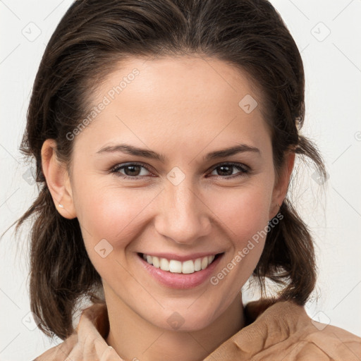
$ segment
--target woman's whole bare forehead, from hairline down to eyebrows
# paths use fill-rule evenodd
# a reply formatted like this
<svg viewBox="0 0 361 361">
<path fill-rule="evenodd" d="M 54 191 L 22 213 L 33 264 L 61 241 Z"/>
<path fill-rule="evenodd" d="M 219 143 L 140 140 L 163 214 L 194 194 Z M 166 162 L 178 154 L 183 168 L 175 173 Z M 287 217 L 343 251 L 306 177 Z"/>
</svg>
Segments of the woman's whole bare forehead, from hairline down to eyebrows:
<svg viewBox="0 0 361 361">
<path fill-rule="evenodd" d="M 128 59 L 104 78 L 92 100 L 98 111 L 80 138 L 98 144 L 127 136 L 137 145 L 176 141 L 184 147 L 193 140 L 201 148 L 232 137 L 257 146 L 268 134 L 262 99 L 247 74 L 218 59 Z"/>
</svg>

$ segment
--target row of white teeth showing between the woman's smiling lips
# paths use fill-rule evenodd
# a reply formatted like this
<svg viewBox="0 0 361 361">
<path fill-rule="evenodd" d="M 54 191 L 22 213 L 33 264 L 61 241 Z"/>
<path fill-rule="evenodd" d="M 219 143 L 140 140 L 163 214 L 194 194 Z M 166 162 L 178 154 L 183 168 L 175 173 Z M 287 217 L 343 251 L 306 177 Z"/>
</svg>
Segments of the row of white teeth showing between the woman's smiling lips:
<svg viewBox="0 0 361 361">
<path fill-rule="evenodd" d="M 178 261 L 176 259 L 166 259 L 156 256 L 146 255 L 145 253 L 138 253 L 145 262 L 151 264 L 155 268 L 159 268 L 162 271 L 169 271 L 175 274 L 194 274 L 197 271 L 207 269 L 209 264 L 212 264 L 215 259 L 223 255 L 223 253 L 217 253 L 216 255 L 209 255 L 196 259 L 188 259 L 185 262 Z"/>
</svg>

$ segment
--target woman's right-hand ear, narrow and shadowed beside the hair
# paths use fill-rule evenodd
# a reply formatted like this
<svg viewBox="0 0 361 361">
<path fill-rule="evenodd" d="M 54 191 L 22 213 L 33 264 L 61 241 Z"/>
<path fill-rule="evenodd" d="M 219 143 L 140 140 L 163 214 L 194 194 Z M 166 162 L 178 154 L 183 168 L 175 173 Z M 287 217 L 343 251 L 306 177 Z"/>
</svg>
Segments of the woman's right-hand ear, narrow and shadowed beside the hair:
<svg viewBox="0 0 361 361">
<path fill-rule="evenodd" d="M 283 166 L 280 172 L 279 179 L 274 185 L 271 207 L 269 209 L 269 219 L 272 219 L 274 218 L 274 216 L 276 216 L 276 214 L 279 212 L 279 208 L 281 207 L 283 200 L 286 197 L 288 184 L 290 182 L 290 175 L 292 173 L 294 164 L 295 152 L 293 149 L 288 150 L 285 153 L 285 159 L 283 161 Z"/>
</svg>

